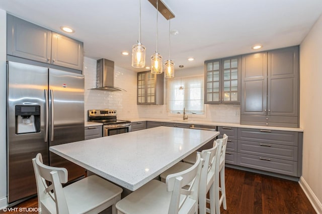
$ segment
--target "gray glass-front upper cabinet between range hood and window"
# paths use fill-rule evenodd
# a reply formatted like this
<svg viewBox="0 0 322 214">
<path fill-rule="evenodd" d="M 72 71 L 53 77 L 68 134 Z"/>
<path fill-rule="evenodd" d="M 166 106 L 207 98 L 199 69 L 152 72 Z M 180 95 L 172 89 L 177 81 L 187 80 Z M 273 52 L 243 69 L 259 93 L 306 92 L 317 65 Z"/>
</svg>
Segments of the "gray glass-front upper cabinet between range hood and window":
<svg viewBox="0 0 322 214">
<path fill-rule="evenodd" d="M 152 74 L 151 71 L 137 73 L 137 104 L 163 105 L 164 73 Z"/>
</svg>

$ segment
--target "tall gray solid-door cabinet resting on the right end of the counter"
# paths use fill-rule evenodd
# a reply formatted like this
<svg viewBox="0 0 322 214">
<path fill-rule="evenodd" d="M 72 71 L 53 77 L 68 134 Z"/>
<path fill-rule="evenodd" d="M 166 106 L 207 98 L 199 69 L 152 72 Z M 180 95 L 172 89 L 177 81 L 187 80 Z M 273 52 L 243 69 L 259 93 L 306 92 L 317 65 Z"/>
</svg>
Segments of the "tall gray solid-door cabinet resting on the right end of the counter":
<svg viewBox="0 0 322 214">
<path fill-rule="evenodd" d="M 298 127 L 298 47 L 242 57 L 240 123 Z"/>
</svg>

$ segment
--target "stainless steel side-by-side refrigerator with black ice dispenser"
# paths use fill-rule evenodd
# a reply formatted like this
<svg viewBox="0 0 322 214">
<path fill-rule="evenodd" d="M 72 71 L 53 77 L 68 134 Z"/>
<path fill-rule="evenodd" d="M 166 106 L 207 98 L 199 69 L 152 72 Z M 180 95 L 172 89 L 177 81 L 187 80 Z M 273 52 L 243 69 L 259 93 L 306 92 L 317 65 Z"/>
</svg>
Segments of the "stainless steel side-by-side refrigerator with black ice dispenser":
<svg viewBox="0 0 322 214">
<path fill-rule="evenodd" d="M 65 167 L 68 179 L 85 174 L 49 152 L 49 146 L 84 140 L 84 76 L 16 62 L 7 64 L 8 203 L 37 193 L 32 158 Z"/>
</svg>

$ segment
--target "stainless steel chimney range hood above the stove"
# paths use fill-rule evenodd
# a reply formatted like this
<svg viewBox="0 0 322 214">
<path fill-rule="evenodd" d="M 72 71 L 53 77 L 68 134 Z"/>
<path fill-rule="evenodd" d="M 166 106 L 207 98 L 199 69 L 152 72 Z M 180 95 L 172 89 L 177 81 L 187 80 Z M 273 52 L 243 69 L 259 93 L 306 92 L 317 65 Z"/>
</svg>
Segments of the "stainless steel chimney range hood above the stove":
<svg viewBox="0 0 322 214">
<path fill-rule="evenodd" d="M 107 59 L 97 60 L 96 64 L 96 90 L 125 91 L 114 87 L 114 62 Z"/>
</svg>

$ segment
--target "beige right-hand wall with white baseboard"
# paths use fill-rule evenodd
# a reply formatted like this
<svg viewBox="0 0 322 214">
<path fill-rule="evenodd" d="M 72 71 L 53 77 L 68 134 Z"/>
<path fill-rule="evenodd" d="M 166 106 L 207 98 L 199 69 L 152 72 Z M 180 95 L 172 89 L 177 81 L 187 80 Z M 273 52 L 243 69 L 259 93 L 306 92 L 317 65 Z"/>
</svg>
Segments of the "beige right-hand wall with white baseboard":
<svg viewBox="0 0 322 214">
<path fill-rule="evenodd" d="M 322 16 L 300 45 L 300 127 L 304 129 L 300 184 L 322 213 Z"/>
</svg>

